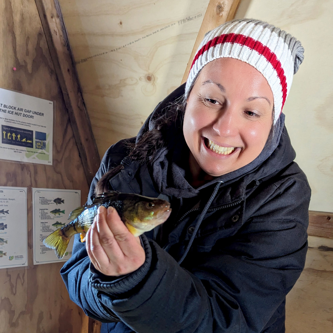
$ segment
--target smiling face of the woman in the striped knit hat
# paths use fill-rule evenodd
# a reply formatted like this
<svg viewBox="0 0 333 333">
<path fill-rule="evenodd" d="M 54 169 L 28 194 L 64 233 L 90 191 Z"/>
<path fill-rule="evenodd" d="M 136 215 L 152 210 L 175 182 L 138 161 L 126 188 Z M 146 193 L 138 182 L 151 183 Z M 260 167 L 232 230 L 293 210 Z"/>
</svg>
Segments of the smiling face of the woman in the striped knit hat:
<svg viewBox="0 0 333 333">
<path fill-rule="evenodd" d="M 220 176 L 252 162 L 267 141 L 272 110 L 272 91 L 254 67 L 233 58 L 204 66 L 188 96 L 183 123 L 198 166 Z"/>
</svg>

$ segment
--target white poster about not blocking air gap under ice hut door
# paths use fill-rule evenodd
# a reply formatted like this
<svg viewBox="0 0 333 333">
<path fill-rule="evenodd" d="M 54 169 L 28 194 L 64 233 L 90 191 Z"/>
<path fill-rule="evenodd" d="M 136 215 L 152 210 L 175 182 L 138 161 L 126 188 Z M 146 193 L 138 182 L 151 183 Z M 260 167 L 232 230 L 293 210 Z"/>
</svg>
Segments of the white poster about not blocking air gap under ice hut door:
<svg viewBox="0 0 333 333">
<path fill-rule="evenodd" d="M 53 102 L 0 88 L 0 158 L 52 165 Z"/>
</svg>

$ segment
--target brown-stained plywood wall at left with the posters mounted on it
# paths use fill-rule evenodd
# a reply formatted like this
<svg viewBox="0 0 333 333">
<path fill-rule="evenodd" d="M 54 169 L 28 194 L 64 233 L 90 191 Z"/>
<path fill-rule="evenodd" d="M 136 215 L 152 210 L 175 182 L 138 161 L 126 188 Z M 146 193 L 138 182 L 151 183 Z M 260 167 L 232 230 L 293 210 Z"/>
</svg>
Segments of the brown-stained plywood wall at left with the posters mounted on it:
<svg viewBox="0 0 333 333">
<path fill-rule="evenodd" d="M 83 204 L 89 186 L 35 1 L 3 0 L 0 12 L 0 86 L 56 106 L 53 166 L 0 161 L 1 185 L 28 187 L 29 263 L 0 269 L 0 333 L 85 332 L 88 318 L 69 299 L 59 274 L 62 263 L 33 266 L 31 187 L 81 189 Z"/>
</svg>

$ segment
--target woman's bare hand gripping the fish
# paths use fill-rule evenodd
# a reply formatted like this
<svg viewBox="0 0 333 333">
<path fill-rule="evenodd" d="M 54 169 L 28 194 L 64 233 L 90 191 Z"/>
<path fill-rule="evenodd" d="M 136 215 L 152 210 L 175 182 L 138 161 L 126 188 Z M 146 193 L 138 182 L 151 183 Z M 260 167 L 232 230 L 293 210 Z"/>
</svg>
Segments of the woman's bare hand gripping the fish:
<svg viewBox="0 0 333 333">
<path fill-rule="evenodd" d="M 86 249 L 95 268 L 110 276 L 132 273 L 146 260 L 140 238 L 127 229 L 114 207 L 98 208 L 86 235 Z"/>
</svg>

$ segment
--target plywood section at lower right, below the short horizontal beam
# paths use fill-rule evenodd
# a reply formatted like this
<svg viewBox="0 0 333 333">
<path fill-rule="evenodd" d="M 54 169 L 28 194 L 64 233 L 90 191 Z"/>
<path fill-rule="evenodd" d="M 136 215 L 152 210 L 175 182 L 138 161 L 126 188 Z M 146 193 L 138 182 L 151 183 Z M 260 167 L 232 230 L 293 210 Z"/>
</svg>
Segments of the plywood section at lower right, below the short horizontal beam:
<svg viewBox="0 0 333 333">
<path fill-rule="evenodd" d="M 286 333 L 332 333 L 333 239 L 308 240 L 305 268 L 287 295 Z"/>
</svg>

